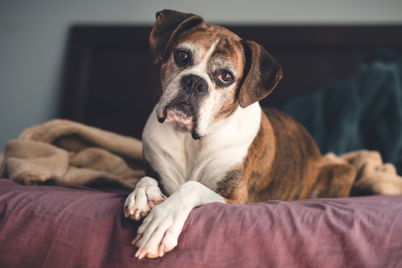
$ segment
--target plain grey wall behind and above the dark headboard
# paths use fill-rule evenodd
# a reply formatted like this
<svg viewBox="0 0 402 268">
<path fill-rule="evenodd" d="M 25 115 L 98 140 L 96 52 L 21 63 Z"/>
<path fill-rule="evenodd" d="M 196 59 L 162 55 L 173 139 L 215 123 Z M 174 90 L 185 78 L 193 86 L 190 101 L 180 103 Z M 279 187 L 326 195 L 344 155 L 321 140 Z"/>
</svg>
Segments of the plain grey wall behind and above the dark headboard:
<svg viewBox="0 0 402 268">
<path fill-rule="evenodd" d="M 57 116 L 70 25 L 152 25 L 162 9 L 209 23 L 402 24 L 401 0 L 0 0 L 0 153 L 26 127 Z"/>
</svg>

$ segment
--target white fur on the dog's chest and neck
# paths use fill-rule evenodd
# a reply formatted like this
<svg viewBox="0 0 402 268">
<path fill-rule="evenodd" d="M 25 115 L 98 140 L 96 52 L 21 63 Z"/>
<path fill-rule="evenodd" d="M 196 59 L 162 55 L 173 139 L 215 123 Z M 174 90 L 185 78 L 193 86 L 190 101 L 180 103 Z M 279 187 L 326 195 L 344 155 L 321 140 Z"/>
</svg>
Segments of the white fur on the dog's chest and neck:
<svg viewBox="0 0 402 268">
<path fill-rule="evenodd" d="M 160 175 L 167 195 L 186 181 L 197 181 L 216 191 L 217 183 L 241 163 L 261 122 L 258 102 L 241 108 L 209 126 L 201 140 L 175 130 L 175 122 L 159 123 L 156 111 L 143 132 L 144 156 Z"/>
</svg>

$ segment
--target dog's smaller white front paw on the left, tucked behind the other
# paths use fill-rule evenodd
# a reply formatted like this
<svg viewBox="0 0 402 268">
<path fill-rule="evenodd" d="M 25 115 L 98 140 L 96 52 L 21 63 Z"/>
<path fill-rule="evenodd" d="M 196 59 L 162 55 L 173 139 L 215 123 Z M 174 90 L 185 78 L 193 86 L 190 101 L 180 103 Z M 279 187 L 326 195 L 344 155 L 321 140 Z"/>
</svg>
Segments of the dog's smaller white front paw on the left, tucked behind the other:
<svg viewBox="0 0 402 268">
<path fill-rule="evenodd" d="M 124 215 L 132 220 L 145 218 L 149 211 L 165 200 L 158 187 L 158 182 L 150 177 L 143 177 L 135 190 L 127 197 L 124 204 Z"/>
</svg>

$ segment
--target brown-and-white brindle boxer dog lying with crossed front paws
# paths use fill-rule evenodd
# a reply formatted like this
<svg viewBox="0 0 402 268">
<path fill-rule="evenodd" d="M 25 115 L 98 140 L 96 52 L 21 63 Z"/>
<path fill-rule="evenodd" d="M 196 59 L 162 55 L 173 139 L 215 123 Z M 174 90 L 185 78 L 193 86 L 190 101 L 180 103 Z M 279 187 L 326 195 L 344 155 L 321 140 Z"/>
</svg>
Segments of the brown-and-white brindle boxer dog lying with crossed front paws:
<svg viewBox="0 0 402 268">
<path fill-rule="evenodd" d="M 126 217 L 145 218 L 136 257 L 174 248 L 200 205 L 349 195 L 352 166 L 327 161 L 303 126 L 261 109 L 282 78 L 263 47 L 169 10 L 156 14 L 150 47 L 163 94 L 142 136 L 147 176 L 124 205 Z"/>
</svg>

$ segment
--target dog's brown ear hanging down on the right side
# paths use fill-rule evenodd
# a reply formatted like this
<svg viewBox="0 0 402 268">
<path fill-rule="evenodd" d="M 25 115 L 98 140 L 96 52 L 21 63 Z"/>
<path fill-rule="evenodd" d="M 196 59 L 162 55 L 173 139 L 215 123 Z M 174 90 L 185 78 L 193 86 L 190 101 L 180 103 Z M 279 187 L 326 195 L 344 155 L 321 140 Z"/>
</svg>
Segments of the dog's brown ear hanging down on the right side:
<svg viewBox="0 0 402 268">
<path fill-rule="evenodd" d="M 265 98 L 282 78 L 282 67 L 260 45 L 242 40 L 246 56 L 245 76 L 239 91 L 240 107 Z"/>
</svg>

